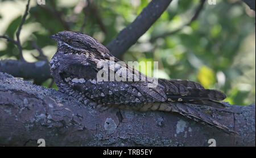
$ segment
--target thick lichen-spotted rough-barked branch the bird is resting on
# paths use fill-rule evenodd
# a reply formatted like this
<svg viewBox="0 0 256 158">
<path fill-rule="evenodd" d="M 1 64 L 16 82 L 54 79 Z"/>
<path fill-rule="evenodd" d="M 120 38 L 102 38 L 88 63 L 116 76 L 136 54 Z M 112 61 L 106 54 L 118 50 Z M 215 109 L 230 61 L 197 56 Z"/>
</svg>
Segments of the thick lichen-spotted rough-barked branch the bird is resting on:
<svg viewBox="0 0 256 158">
<path fill-rule="evenodd" d="M 255 105 L 196 106 L 240 133 L 230 136 L 178 114 L 94 109 L 55 89 L 0 72 L 0 145 L 255 146 Z"/>
</svg>

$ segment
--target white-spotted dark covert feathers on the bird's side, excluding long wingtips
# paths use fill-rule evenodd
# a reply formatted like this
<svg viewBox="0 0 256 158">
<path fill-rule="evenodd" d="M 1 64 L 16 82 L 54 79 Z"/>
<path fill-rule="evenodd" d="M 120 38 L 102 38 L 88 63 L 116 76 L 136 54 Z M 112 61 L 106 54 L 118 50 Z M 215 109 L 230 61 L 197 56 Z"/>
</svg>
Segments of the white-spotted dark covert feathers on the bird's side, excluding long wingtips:
<svg viewBox="0 0 256 158">
<path fill-rule="evenodd" d="M 85 64 L 76 60 L 69 61 L 59 72 L 62 80 L 73 90 L 98 103 L 137 106 L 141 103 L 163 102 L 166 99 L 162 89 L 149 89 L 145 82 L 98 81 L 97 73 L 102 69 L 97 68 L 94 61 L 88 60 Z M 117 73 L 118 70 L 121 68 L 108 68 L 106 71 L 110 74 L 111 71 Z M 136 74 L 133 77 L 136 78 Z"/>
</svg>

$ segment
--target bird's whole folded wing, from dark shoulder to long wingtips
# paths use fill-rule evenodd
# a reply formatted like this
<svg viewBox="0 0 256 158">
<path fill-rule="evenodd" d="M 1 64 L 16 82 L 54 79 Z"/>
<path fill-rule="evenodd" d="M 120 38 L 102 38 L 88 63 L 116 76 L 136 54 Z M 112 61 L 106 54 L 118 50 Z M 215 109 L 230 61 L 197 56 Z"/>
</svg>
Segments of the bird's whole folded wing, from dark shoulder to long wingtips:
<svg viewBox="0 0 256 158">
<path fill-rule="evenodd" d="M 99 68 L 97 68 L 95 60 L 97 60 L 98 65 L 101 65 Z M 225 98 L 225 94 L 217 90 L 205 89 L 202 85 L 188 80 L 158 79 L 158 82 L 154 82 L 153 80 L 156 78 L 147 77 L 125 63 L 117 64 L 118 59 L 115 59 L 114 67 L 108 64 L 104 68 L 102 65 L 105 61 L 109 61 L 109 59 L 94 59 L 94 61 L 88 59 L 83 65 L 72 61 L 67 63 L 60 76 L 72 89 L 98 103 L 139 105 L 140 103 L 151 102 L 185 102 L 225 107 L 222 103 L 214 101 Z M 111 72 L 115 75 L 126 72 L 125 75 L 122 74 L 126 77 L 126 81 L 111 81 L 108 77 L 108 81 L 98 82 L 97 73 L 104 69 L 109 76 Z M 140 81 L 143 77 L 146 78 L 146 81 Z M 139 81 L 135 81 L 136 78 Z M 148 81 L 148 78 L 151 80 Z"/>
</svg>

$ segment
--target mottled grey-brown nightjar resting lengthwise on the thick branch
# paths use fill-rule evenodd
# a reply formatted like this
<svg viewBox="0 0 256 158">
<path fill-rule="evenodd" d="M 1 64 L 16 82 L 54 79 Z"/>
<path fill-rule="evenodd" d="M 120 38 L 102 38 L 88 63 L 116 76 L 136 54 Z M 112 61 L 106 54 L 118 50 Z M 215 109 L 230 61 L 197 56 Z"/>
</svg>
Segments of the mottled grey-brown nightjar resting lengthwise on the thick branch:
<svg viewBox="0 0 256 158">
<path fill-rule="evenodd" d="M 187 103 L 225 108 L 220 102 L 226 95 L 218 90 L 205 89 L 197 82 L 188 80 L 135 81 L 147 77 L 118 59 L 96 39 L 73 31 L 61 31 L 50 38 L 57 41 L 57 52 L 50 62 L 51 74 L 61 92 L 73 95 L 79 101 L 90 99 L 99 105 L 139 111 L 159 110 L 179 113 L 185 117 L 218 128 L 228 134 L 237 132 L 218 123 L 207 114 L 189 107 Z M 114 59 L 112 63 L 110 59 Z M 108 63 L 108 69 L 102 68 Z M 100 66 L 99 66 L 100 65 Z M 97 81 L 97 73 L 126 71 L 129 81 Z M 122 77 L 122 76 L 121 76 Z M 152 84 L 154 86 L 148 86 Z"/>
</svg>

